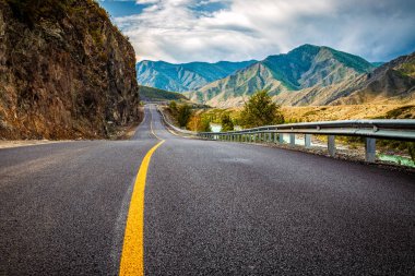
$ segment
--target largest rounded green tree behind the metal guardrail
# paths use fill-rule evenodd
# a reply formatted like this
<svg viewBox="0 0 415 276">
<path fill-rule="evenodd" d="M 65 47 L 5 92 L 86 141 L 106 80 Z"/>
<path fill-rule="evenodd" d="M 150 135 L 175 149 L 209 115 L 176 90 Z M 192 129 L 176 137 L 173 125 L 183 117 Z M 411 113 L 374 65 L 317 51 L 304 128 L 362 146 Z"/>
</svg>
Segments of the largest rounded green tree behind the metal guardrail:
<svg viewBox="0 0 415 276">
<path fill-rule="evenodd" d="M 245 103 L 240 113 L 240 122 L 245 128 L 256 128 L 284 122 L 280 106 L 272 101 L 268 91 L 258 91 Z"/>
</svg>

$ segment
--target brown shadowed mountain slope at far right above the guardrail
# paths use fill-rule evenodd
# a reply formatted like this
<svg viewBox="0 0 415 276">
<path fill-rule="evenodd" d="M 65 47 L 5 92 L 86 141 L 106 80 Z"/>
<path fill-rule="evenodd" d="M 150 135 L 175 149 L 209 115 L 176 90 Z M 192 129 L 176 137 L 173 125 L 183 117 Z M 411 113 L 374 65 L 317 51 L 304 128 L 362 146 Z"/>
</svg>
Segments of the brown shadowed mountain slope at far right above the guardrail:
<svg viewBox="0 0 415 276">
<path fill-rule="evenodd" d="M 288 106 L 415 103 L 415 53 L 394 59 L 369 73 L 328 86 L 281 93 L 274 99 Z"/>
</svg>

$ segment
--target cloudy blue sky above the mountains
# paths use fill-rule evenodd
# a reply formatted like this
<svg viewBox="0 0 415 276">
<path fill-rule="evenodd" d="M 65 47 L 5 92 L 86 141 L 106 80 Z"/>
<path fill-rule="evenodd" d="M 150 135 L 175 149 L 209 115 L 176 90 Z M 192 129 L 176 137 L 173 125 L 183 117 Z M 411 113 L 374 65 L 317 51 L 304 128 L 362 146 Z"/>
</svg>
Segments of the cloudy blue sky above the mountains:
<svg viewBox="0 0 415 276">
<path fill-rule="evenodd" d="M 98 0 L 137 60 L 262 60 L 304 45 L 369 61 L 415 51 L 414 0 Z"/>
</svg>

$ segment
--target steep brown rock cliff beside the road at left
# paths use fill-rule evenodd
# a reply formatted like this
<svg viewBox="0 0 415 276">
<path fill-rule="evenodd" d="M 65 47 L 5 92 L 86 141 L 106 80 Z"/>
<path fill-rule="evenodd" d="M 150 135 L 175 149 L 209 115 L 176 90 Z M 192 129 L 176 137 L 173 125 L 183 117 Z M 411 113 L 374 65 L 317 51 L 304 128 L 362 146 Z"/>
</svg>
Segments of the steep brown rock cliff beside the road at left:
<svg viewBox="0 0 415 276">
<path fill-rule="evenodd" d="M 92 0 L 0 0 L 0 139 L 98 139 L 139 120 L 134 57 Z"/>
</svg>

